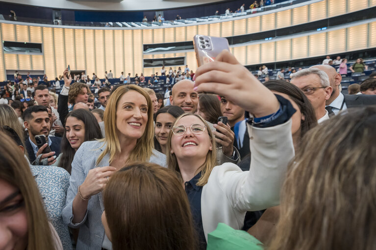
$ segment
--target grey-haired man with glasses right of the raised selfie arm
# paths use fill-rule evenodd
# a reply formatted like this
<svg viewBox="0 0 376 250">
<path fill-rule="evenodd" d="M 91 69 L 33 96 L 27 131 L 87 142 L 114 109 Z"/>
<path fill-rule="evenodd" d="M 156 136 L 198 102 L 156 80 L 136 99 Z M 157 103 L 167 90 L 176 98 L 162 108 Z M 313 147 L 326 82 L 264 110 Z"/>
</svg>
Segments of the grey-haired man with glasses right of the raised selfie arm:
<svg viewBox="0 0 376 250">
<path fill-rule="evenodd" d="M 315 110 L 318 123 L 329 119 L 325 103 L 330 98 L 333 89 L 329 85 L 329 78 L 323 70 L 304 68 L 292 75 L 291 83 L 307 96 Z"/>
</svg>

